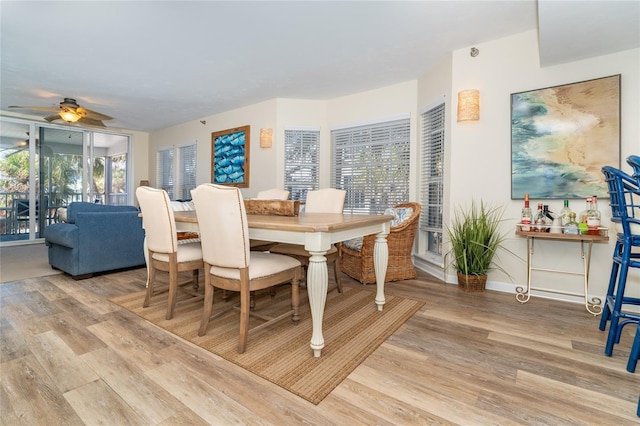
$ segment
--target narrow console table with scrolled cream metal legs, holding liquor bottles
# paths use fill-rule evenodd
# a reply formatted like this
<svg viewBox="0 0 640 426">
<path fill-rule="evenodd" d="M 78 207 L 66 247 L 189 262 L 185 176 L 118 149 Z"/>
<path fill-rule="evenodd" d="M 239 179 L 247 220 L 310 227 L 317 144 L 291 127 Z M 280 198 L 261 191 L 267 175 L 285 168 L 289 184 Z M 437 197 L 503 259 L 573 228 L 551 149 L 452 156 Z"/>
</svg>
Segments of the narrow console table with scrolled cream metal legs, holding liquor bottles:
<svg viewBox="0 0 640 426">
<path fill-rule="evenodd" d="M 545 291 L 548 293 L 565 294 L 568 296 L 582 296 L 584 297 L 584 305 L 587 311 L 593 315 L 600 315 L 602 313 L 602 300 L 597 297 L 589 300 L 589 267 L 591 264 L 591 248 L 594 242 L 607 242 L 609 236 L 606 235 L 606 229 L 603 230 L 605 235 L 568 235 L 568 234 L 554 234 L 548 232 L 524 232 L 516 230 L 516 235 L 527 239 L 527 288 L 522 286 L 516 287 L 516 300 L 520 303 L 526 303 L 531 298 L 531 290 Z M 535 240 L 551 240 L 551 241 L 573 241 L 580 242 L 580 256 L 582 258 L 582 272 L 573 272 L 557 269 L 546 269 L 533 266 L 533 248 Z M 587 246 L 585 254 L 585 244 Z M 571 293 L 561 290 L 549 289 L 549 288 L 532 288 L 531 286 L 531 272 L 532 271 L 546 271 L 555 272 L 560 274 L 580 275 L 584 278 L 584 294 Z"/>
</svg>

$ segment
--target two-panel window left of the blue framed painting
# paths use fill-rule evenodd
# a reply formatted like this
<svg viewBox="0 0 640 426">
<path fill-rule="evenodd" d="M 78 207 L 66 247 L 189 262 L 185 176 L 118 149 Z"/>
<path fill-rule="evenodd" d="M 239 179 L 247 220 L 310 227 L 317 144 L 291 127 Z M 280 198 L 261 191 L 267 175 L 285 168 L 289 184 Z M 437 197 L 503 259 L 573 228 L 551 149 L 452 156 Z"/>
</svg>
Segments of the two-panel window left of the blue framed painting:
<svg viewBox="0 0 640 426">
<path fill-rule="evenodd" d="M 196 187 L 196 153 L 195 143 L 158 151 L 156 182 L 171 200 L 191 199 Z"/>
</svg>

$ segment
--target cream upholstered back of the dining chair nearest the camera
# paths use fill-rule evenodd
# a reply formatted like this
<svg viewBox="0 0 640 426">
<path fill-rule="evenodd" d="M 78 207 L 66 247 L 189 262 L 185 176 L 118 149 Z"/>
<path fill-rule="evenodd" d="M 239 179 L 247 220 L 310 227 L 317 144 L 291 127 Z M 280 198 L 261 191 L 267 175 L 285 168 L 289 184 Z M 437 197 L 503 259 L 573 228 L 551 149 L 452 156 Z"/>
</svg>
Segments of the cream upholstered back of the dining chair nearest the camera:
<svg viewBox="0 0 640 426">
<path fill-rule="evenodd" d="M 198 217 L 203 260 L 222 268 L 248 267 L 249 226 L 240 190 L 206 183 L 192 189 L 191 197 Z"/>
</svg>

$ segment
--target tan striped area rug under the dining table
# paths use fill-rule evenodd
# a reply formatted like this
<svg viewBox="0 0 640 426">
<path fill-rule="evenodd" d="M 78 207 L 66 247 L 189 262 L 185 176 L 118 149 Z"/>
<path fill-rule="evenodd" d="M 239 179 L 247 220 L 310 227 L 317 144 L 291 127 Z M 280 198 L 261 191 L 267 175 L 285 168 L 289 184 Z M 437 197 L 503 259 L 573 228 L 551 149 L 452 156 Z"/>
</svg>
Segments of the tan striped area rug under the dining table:
<svg viewBox="0 0 640 426">
<path fill-rule="evenodd" d="M 217 294 L 217 293 L 216 293 Z M 423 305 L 410 299 L 386 295 L 382 312 L 374 303 L 375 293 L 345 288 L 331 291 L 325 306 L 323 336 L 325 347 L 320 358 L 313 357 L 311 312 L 304 289 L 301 289 L 300 322 L 289 318 L 256 332 L 249 332 L 247 350 L 237 353 L 239 314 L 230 310 L 210 321 L 207 334 L 198 337 L 202 299 L 181 294 L 174 318 L 165 320 L 167 295 L 154 296 L 148 308 L 142 308 L 144 291 L 110 299 L 164 330 L 180 336 L 258 376 L 319 404 L 382 342 L 393 334 Z M 195 300 L 194 300 L 195 299 Z M 233 300 L 214 302 L 216 308 Z M 275 296 L 267 291 L 256 295 L 258 313 L 286 312 L 290 305 L 290 288 L 278 287 Z M 251 320 L 251 326 L 259 320 Z"/>
</svg>

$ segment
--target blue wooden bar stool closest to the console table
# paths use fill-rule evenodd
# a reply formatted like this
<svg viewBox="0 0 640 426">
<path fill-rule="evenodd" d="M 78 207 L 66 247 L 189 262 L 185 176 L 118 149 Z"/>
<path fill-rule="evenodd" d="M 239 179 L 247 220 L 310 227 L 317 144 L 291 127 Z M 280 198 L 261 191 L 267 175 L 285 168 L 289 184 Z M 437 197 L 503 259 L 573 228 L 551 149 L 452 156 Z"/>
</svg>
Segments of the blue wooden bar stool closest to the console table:
<svg viewBox="0 0 640 426">
<path fill-rule="evenodd" d="M 605 308 L 600 320 L 600 330 L 609 324 L 605 355 L 611 356 L 613 346 L 620 342 L 625 325 L 640 322 L 640 314 L 625 312 L 623 305 L 640 305 L 640 298 L 625 296 L 629 268 L 640 268 L 640 253 L 632 252 L 640 247 L 640 189 L 638 182 L 614 167 L 602 168 L 609 191 L 611 221 L 618 230 L 613 251 L 613 264 Z"/>
</svg>

